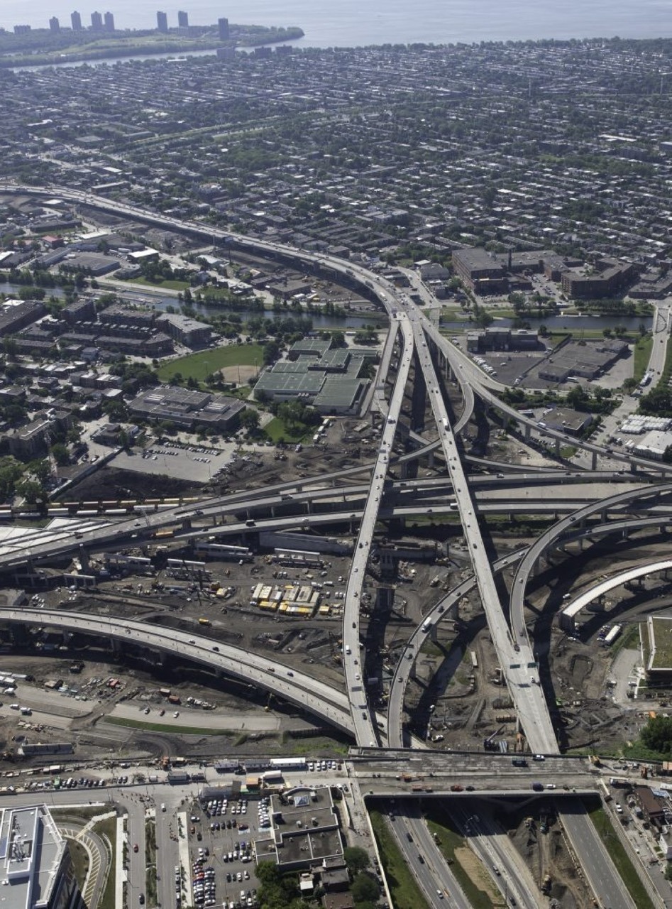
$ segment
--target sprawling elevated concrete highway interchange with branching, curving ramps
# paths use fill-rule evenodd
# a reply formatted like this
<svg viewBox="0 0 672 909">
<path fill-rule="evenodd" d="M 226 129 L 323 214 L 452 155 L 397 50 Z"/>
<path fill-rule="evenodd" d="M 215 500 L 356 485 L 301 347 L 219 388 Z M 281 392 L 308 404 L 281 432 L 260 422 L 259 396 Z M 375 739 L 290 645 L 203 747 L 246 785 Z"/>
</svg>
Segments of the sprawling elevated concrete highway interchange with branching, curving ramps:
<svg viewBox="0 0 672 909">
<path fill-rule="evenodd" d="M 213 232 L 209 225 L 204 228 L 202 225 L 186 224 L 173 218 L 153 215 L 153 213 L 149 212 L 140 212 L 127 205 L 93 198 L 89 194 L 64 190 L 61 187 L 38 189 L 35 187 L 5 185 L 5 189 L 11 188 L 16 191 L 37 194 L 46 192 L 49 195 L 54 195 L 54 192 L 57 192 L 58 195 L 62 195 L 71 201 L 92 205 L 115 214 L 140 218 L 154 225 L 203 235 L 208 240 L 212 240 Z M 561 518 L 557 524 L 554 524 L 548 533 L 539 538 L 538 543 L 531 547 L 527 553 L 512 554 L 506 560 L 500 560 L 498 564 L 491 567 L 478 523 L 479 509 L 485 508 L 486 505 L 485 503 L 477 504 L 476 502 L 473 491 L 474 481 L 473 479 L 468 479 L 465 474 L 463 457 L 456 442 L 456 434 L 469 420 L 475 396 L 478 396 L 487 405 L 497 406 L 504 415 L 515 418 L 519 424 L 523 425 L 524 431 L 534 430 L 535 434 L 539 435 L 539 433 L 542 433 L 565 444 L 571 441 L 572 445 L 577 445 L 576 440 L 569 440 L 564 434 L 548 430 L 545 427 L 540 429 L 534 421 L 528 418 L 521 418 L 519 413 L 513 408 L 502 405 L 497 397 L 497 385 L 494 385 L 495 390 L 493 390 L 492 381 L 487 376 L 478 373 L 469 359 L 440 335 L 436 326 L 425 318 L 420 309 L 413 305 L 408 297 L 400 294 L 396 288 L 378 275 L 361 268 L 361 266 L 352 265 L 351 263 L 346 265 L 342 260 L 336 258 L 296 251 L 273 242 L 240 235 L 223 234 L 222 232 L 219 235 L 214 232 L 214 235 L 218 236 L 222 241 L 230 239 L 240 248 L 253 248 L 258 253 L 265 253 L 266 255 L 285 256 L 308 263 L 311 267 L 317 267 L 343 276 L 347 273 L 349 279 L 354 278 L 360 281 L 361 285 L 368 287 L 371 290 L 371 294 L 377 296 L 380 303 L 385 306 L 390 315 L 390 324 L 393 326 L 397 343 L 402 350 L 400 365 L 395 375 L 389 402 L 378 392 L 374 395 L 376 406 L 384 419 L 380 444 L 375 462 L 370 468 L 370 483 L 365 493 L 363 506 L 359 509 L 353 509 L 353 513 L 358 518 L 359 532 L 355 540 L 343 614 L 343 658 L 346 690 L 341 693 L 335 692 L 329 686 L 321 685 L 313 678 L 292 673 L 286 667 L 283 667 L 282 664 L 269 664 L 268 660 L 257 657 L 254 654 L 244 654 L 243 660 L 243 654 L 235 652 L 236 648 L 222 645 L 219 652 L 215 653 L 209 641 L 204 643 L 207 639 L 201 640 L 197 636 L 175 631 L 163 633 L 160 628 L 152 627 L 148 629 L 148 626 L 142 623 L 129 623 L 125 620 L 124 623 L 117 623 L 114 619 L 97 619 L 93 616 L 66 614 L 61 611 L 52 614 L 44 610 L 40 614 L 35 615 L 34 621 L 40 622 L 40 624 L 45 624 L 48 621 L 49 624 L 60 625 L 65 629 L 91 631 L 93 634 L 104 637 L 109 636 L 116 640 L 143 642 L 145 645 L 155 646 L 157 650 L 181 653 L 195 662 L 202 662 L 210 666 L 221 665 L 222 671 L 241 675 L 262 686 L 268 687 L 272 683 L 272 687 L 282 691 L 283 696 L 287 700 L 301 704 L 306 709 L 311 710 L 311 712 L 328 718 L 332 724 L 348 731 L 353 735 L 358 745 L 366 748 L 376 748 L 380 744 L 392 744 L 395 746 L 403 744 L 403 733 L 400 728 L 400 704 L 403 703 L 405 684 L 401 684 L 404 681 L 401 673 L 403 671 L 402 667 L 405 665 L 403 659 L 406 654 L 402 656 L 397 669 L 398 675 L 395 676 L 393 696 L 390 697 L 388 714 L 387 716 L 377 716 L 367 703 L 365 691 L 363 691 L 358 679 L 361 672 L 358 664 L 360 654 L 359 616 L 362 584 L 371 553 L 373 530 L 379 514 L 381 514 L 383 491 L 388 470 L 390 469 L 392 444 L 398 428 L 401 403 L 408 384 L 411 365 L 415 365 L 416 381 L 418 381 L 420 370 L 422 380 L 426 386 L 434 423 L 439 434 L 438 445 L 442 450 L 448 468 L 450 494 L 460 515 L 463 534 L 467 541 L 471 558 L 473 575 L 469 581 L 463 582 L 463 584 L 476 585 L 478 587 L 493 644 L 498 653 L 499 664 L 506 675 L 509 690 L 519 715 L 519 723 L 526 735 L 529 747 L 535 753 L 547 754 L 549 758 L 550 755 L 558 754 L 558 743 L 548 714 L 548 705 L 546 704 L 542 687 L 539 684 L 539 669 L 534 655 L 533 644 L 529 641 L 523 617 L 524 593 L 529 574 L 550 545 L 557 544 L 558 540 L 566 541 L 568 534 L 580 536 L 581 534 L 595 532 L 594 527 L 587 528 L 585 525 L 585 519 L 593 514 L 600 514 L 601 517 L 606 518 L 608 510 L 630 504 L 634 504 L 643 510 L 646 507 L 647 496 L 652 499 L 651 506 L 658 508 L 661 494 L 672 491 L 672 484 L 663 484 L 656 487 L 649 487 L 647 484 L 650 482 L 652 474 L 665 474 L 672 468 L 669 465 L 650 462 L 643 458 L 633 458 L 625 452 L 610 451 L 593 443 L 579 443 L 593 457 L 593 466 L 597 463 L 598 457 L 607 457 L 609 462 L 615 461 L 618 464 L 627 466 L 629 470 L 638 471 L 637 482 L 642 485 L 637 486 L 635 489 L 629 488 L 624 493 L 611 495 L 604 501 L 579 507 L 573 514 Z M 391 343 L 386 346 L 386 351 L 389 351 L 389 355 L 383 356 L 383 365 L 390 363 Z M 465 406 L 454 426 L 451 425 L 450 413 L 443 398 L 440 381 L 436 373 L 437 363 L 441 368 L 450 368 L 451 374 L 454 375 L 462 390 Z M 468 381 L 466 375 L 469 375 Z M 379 387 L 382 385 L 384 378 L 384 375 L 379 375 Z M 428 445 L 436 447 L 437 443 L 430 442 Z M 564 474 L 564 477 L 567 476 L 565 471 L 558 472 L 558 474 L 560 473 Z M 620 480 L 620 476 L 618 474 L 615 475 L 614 471 L 607 471 L 604 474 L 604 480 L 607 483 L 617 479 L 617 477 Z M 498 479 L 499 477 L 492 478 L 492 481 L 496 484 Z M 557 479 L 559 479 L 559 476 Z M 636 477 L 623 477 L 623 482 L 626 479 L 629 482 L 636 479 Z M 549 480 L 552 482 L 550 475 L 545 476 L 541 482 L 548 484 Z M 509 474 L 504 477 L 502 486 L 511 482 L 515 485 L 519 481 L 520 485 L 529 483 L 529 481 L 523 479 L 523 475 L 519 478 L 514 478 Z M 443 482 L 445 483 L 445 480 Z M 539 474 L 535 475 L 535 482 L 539 482 Z M 409 481 L 409 484 L 415 484 L 415 481 Z M 290 485 L 297 487 L 296 483 L 287 484 L 288 487 Z M 324 495 L 324 486 L 322 485 L 321 490 L 316 491 L 313 489 L 313 481 L 307 481 L 301 486 L 301 491 L 297 489 L 296 494 L 300 494 L 301 498 L 305 498 L 306 501 L 312 500 L 313 493 L 315 499 L 319 498 L 320 495 Z M 401 492 L 401 489 L 399 491 Z M 337 491 L 334 489 L 331 492 L 332 494 L 341 494 L 341 490 Z M 361 495 L 360 488 L 358 488 L 356 494 Z M 640 501 L 644 501 L 645 505 L 641 506 L 639 504 Z M 277 495 L 273 498 L 273 502 L 277 502 Z M 239 494 L 237 503 L 233 497 L 227 499 L 227 507 L 235 506 L 236 504 L 239 509 L 247 509 L 252 506 L 265 508 L 269 505 L 268 502 L 260 501 L 251 496 L 250 493 Z M 549 504 L 558 505 L 558 511 L 564 510 L 559 500 L 558 503 Z M 548 508 L 547 505 L 547 510 L 552 511 L 553 509 Z M 667 511 L 667 509 L 665 510 Z M 0 550 L 0 566 L 5 569 L 15 567 L 29 561 L 48 558 L 54 554 L 73 552 L 82 547 L 94 551 L 114 545 L 118 546 L 127 543 L 129 537 L 150 535 L 156 528 L 169 524 L 171 521 L 174 522 L 177 519 L 183 521 L 185 534 L 192 532 L 203 533 L 203 529 L 193 531 L 192 522 L 197 518 L 205 520 L 211 514 L 212 517 L 222 514 L 221 501 L 217 500 L 212 502 L 212 504 L 207 502 L 200 503 L 198 507 L 182 507 L 175 509 L 173 514 L 165 512 L 148 514 L 143 517 L 142 522 L 129 520 L 119 523 L 101 520 L 97 521 L 94 527 L 89 527 L 88 529 L 84 527 L 81 536 L 78 534 L 78 539 L 76 540 L 73 540 L 72 535 L 66 537 L 65 535 L 54 534 L 54 537 L 50 539 L 46 546 L 40 545 L 39 553 L 35 552 L 35 542 L 25 541 L 25 544 L 5 545 Z M 359 517 L 360 514 L 361 518 Z M 305 523 L 312 523 L 313 520 L 321 516 L 307 514 L 301 520 L 304 520 Z M 333 519 L 333 514 L 330 516 Z M 292 522 L 294 525 L 296 524 L 295 516 L 293 521 L 292 518 L 272 517 L 270 520 L 257 522 L 257 524 L 269 527 L 281 526 L 284 520 Z M 628 526 L 639 525 L 642 520 L 648 519 L 638 518 L 633 520 L 628 517 L 622 523 L 627 528 Z M 661 522 L 665 522 L 664 516 L 661 516 Z M 223 526 L 222 524 L 218 525 L 218 533 Z M 242 530 L 242 525 L 238 522 L 229 523 L 225 525 L 225 529 L 232 533 L 239 533 Z M 502 604 L 499 601 L 499 594 L 494 583 L 493 569 L 501 570 L 505 564 L 515 564 L 517 562 L 519 567 L 514 579 L 511 602 L 510 604 Z M 458 592 L 451 591 L 446 599 L 455 595 L 458 595 Z M 507 619 L 505 605 L 510 605 L 510 620 Z M 437 604 L 430 615 L 430 621 L 439 621 L 440 613 L 441 609 L 439 604 Z M 10 610 L 0 610 L 0 619 L 26 622 L 31 621 L 31 616 L 24 611 L 16 613 Z M 426 621 L 427 619 L 425 619 L 423 624 Z M 417 652 L 424 634 L 429 634 L 429 631 L 423 631 L 421 628 L 416 630 L 408 644 L 408 648 L 411 651 L 415 648 L 415 652 Z M 170 640 L 166 641 L 166 636 Z M 407 662 L 410 661 L 407 660 Z M 272 676 L 271 680 L 270 676 Z M 397 694 L 398 688 L 399 694 Z M 452 761 L 448 762 L 448 764 L 450 766 Z M 548 766 L 550 766 L 550 763 Z M 455 772 L 453 768 L 453 773 Z M 372 787 L 371 791 L 374 791 Z M 593 892 L 600 894 L 604 904 L 610 905 L 612 909 L 621 909 L 621 907 L 625 909 L 625 907 L 633 906 L 634 903 L 618 881 L 618 874 L 598 840 L 598 836 L 592 828 L 582 804 L 576 801 L 572 810 L 564 812 L 559 803 L 561 803 L 561 800 L 558 799 L 558 809 L 561 812 L 562 824 L 570 842 L 574 845 L 575 852 L 581 855 L 583 868 Z M 467 820 L 467 818 L 463 819 L 463 823 L 466 824 Z M 450 874 L 450 869 L 440 860 L 438 851 L 432 849 L 431 843 L 427 842 L 428 839 L 430 840 L 429 834 L 420 832 L 420 827 L 426 831 L 420 818 L 411 814 L 404 821 L 404 818 L 399 817 L 396 829 L 403 829 L 403 824 L 407 824 L 406 829 L 409 832 L 412 830 L 419 839 L 422 838 L 423 847 L 427 850 L 427 854 L 431 855 L 431 861 L 422 864 L 421 867 L 418 866 L 417 862 L 413 862 L 410 854 L 407 855 L 416 876 L 425 881 L 423 890 L 425 890 L 428 902 L 438 906 L 445 898 L 444 894 L 447 894 L 450 895 L 450 904 L 468 905 L 465 902 L 464 894 L 460 894 L 460 888 L 454 876 Z M 539 900 L 539 895 L 536 891 L 530 889 L 525 875 L 520 873 L 516 864 L 510 860 L 510 856 L 508 857 L 506 848 L 499 843 L 497 831 L 490 829 L 488 824 L 488 821 L 484 821 L 483 825 L 476 829 L 473 821 L 471 822 L 471 833 L 474 834 L 475 850 L 481 854 L 484 861 L 488 854 L 497 855 L 497 861 L 506 869 L 504 884 L 506 885 L 507 896 L 515 894 L 518 904 L 529 905 L 530 907 L 535 906 L 537 904 L 535 900 Z M 501 886 L 500 875 L 495 878 L 495 884 Z"/>
</svg>

